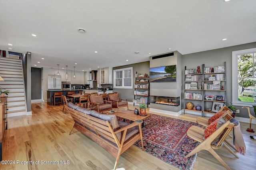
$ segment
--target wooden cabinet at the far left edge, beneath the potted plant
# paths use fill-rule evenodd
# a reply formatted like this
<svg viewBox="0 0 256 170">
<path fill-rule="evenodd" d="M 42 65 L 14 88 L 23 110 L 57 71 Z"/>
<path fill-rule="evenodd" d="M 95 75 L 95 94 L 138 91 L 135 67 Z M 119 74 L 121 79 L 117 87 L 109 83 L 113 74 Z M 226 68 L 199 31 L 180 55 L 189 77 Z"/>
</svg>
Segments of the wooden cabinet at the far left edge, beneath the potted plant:
<svg viewBox="0 0 256 170">
<path fill-rule="evenodd" d="M 3 138 L 4 132 L 7 129 L 7 97 L 1 98 L 0 119 L 2 120 L 0 125 L 0 159 L 2 160 Z"/>
</svg>

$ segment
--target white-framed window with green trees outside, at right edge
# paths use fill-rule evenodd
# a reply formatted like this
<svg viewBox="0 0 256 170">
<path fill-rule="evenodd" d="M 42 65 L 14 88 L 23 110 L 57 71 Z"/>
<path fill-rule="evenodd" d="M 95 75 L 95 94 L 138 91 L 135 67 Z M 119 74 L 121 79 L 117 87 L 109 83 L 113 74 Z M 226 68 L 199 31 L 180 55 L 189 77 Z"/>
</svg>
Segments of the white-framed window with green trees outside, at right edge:
<svg viewBox="0 0 256 170">
<path fill-rule="evenodd" d="M 256 102 L 256 48 L 232 52 L 232 104 Z"/>
</svg>

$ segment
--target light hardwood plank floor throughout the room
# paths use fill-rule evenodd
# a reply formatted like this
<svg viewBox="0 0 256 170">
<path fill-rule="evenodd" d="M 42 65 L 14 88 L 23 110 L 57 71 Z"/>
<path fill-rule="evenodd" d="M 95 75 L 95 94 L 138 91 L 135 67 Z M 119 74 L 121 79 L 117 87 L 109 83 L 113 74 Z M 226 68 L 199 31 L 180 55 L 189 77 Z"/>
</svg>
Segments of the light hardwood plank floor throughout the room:
<svg viewBox="0 0 256 170">
<path fill-rule="evenodd" d="M 8 130 L 4 135 L 3 160 L 14 160 L 15 164 L 0 165 L 0 169 L 8 170 L 110 170 L 114 167 L 115 158 L 92 140 L 74 129 L 70 115 L 63 106 L 48 106 L 46 102 L 32 103 L 32 115 L 8 118 Z M 129 105 L 129 109 L 134 106 Z M 147 111 L 149 112 L 149 111 Z M 153 113 L 153 112 L 152 112 Z M 156 113 L 155 113 L 156 114 Z M 159 114 L 159 113 L 158 113 Z M 175 116 L 172 116 L 175 117 Z M 179 119 L 195 121 L 193 115 L 180 115 Z M 246 143 L 246 155 L 238 154 L 235 158 L 224 147 L 216 152 L 234 170 L 256 169 L 256 140 L 250 139 L 246 128 L 248 123 L 240 123 Z M 256 125 L 252 128 L 256 130 Z M 232 139 L 230 139 L 230 142 Z M 16 161 L 56 161 L 52 164 L 22 165 Z M 66 164 L 60 164 L 65 161 Z M 64 163 L 64 162 L 62 162 Z M 119 159 L 118 168 L 126 170 L 174 170 L 173 166 L 143 152 L 135 146 L 130 147 Z M 198 153 L 193 170 L 225 169 L 209 152 Z"/>
</svg>

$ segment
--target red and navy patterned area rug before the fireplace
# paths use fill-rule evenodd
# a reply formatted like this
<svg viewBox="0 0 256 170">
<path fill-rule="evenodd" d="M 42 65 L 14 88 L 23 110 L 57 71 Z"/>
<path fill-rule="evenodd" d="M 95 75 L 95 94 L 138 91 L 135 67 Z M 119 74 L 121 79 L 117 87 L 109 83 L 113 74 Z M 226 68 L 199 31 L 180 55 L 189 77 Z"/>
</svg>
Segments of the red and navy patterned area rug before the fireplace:
<svg viewBox="0 0 256 170">
<path fill-rule="evenodd" d="M 186 135 L 198 123 L 151 114 L 142 128 L 144 151 L 181 170 L 192 169 L 196 155 L 185 158 L 198 143 Z M 138 140 L 134 145 L 141 148 Z"/>
</svg>

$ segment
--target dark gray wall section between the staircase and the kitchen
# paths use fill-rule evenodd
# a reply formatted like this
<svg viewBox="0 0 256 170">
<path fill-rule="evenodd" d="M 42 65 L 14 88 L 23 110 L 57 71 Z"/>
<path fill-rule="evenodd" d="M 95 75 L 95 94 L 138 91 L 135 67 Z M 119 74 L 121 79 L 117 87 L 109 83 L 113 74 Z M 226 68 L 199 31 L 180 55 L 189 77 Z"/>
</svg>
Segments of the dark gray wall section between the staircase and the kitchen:
<svg viewBox="0 0 256 170">
<path fill-rule="evenodd" d="M 41 68 L 31 68 L 31 100 L 41 99 Z"/>
</svg>

